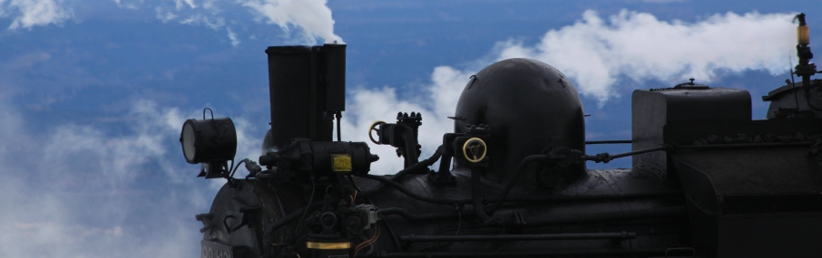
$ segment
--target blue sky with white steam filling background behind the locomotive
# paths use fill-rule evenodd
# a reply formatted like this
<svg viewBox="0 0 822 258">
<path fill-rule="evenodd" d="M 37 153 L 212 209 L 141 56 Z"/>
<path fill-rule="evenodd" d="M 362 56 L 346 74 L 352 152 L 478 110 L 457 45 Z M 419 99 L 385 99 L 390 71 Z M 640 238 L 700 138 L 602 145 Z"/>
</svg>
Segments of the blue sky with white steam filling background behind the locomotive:
<svg viewBox="0 0 822 258">
<path fill-rule="evenodd" d="M 822 2 L 714 2 L 0 0 L 0 256 L 199 255 L 193 215 L 221 182 L 184 162 L 182 121 L 210 107 L 237 123 L 238 159 L 259 155 L 269 45 L 348 44 L 349 140 L 400 110 L 448 131 L 468 76 L 510 57 L 572 78 L 589 139 L 629 139 L 631 91 L 689 77 L 749 90 L 764 118 L 759 96 L 788 78 L 790 16 L 807 14 L 819 49 Z M 375 173 L 401 166 L 372 148 Z"/>
</svg>

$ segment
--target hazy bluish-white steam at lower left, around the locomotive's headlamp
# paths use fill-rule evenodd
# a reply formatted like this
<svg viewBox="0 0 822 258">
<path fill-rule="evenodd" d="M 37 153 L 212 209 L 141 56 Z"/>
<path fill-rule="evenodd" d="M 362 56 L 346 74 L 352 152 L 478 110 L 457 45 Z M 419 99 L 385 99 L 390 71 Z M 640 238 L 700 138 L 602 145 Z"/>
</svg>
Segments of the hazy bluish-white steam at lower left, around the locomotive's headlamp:
<svg viewBox="0 0 822 258">
<path fill-rule="evenodd" d="M 2 99 L 0 99 L 2 100 Z M 123 135 L 65 124 L 30 133 L 0 101 L 0 257 L 185 257 L 199 252 L 200 225 L 225 180 L 195 178 L 177 138 L 184 116 L 136 101 Z M 196 117 L 197 111 L 189 112 Z M 238 158 L 259 156 L 259 139 L 235 119 Z M 259 132 L 253 131 L 258 135 Z M 181 162 L 182 161 L 182 162 Z M 222 181 L 222 182 L 220 182 Z"/>
</svg>

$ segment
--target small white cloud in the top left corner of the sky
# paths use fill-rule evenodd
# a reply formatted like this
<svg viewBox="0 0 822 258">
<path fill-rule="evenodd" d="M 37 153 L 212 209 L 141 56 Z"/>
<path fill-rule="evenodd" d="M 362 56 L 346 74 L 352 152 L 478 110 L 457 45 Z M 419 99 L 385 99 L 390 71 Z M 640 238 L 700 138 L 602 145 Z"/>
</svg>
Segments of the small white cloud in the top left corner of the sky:
<svg viewBox="0 0 822 258">
<path fill-rule="evenodd" d="M 12 12 L 16 10 L 16 12 Z M 34 26 L 63 24 L 73 16 L 70 6 L 63 0 L 10 0 L 8 5 L 0 1 L 0 17 L 14 16 L 8 29 L 31 29 Z"/>
</svg>

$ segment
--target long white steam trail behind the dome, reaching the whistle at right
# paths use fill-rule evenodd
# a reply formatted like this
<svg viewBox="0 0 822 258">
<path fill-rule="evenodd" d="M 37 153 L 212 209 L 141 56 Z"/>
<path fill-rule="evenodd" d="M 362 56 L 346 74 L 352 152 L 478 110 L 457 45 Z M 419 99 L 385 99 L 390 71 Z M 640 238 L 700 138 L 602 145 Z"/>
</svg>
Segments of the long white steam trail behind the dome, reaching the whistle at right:
<svg viewBox="0 0 822 258">
<path fill-rule="evenodd" d="M 787 72 L 788 54 L 795 45 L 792 14 L 715 14 L 696 23 L 666 22 L 652 14 L 622 11 L 603 19 L 593 11 L 582 20 L 543 35 L 542 41 L 524 45 L 515 41 L 497 43 L 490 58 L 477 61 L 484 67 L 508 58 L 532 58 L 553 65 L 569 76 L 583 97 L 598 100 L 618 98 L 631 87 L 619 86 L 627 79 L 633 85 L 658 80 L 673 85 L 695 78 L 698 82 L 719 79 L 723 72 L 764 70 Z M 427 94 L 414 100 L 397 98 L 393 88 L 360 89 L 352 92 L 343 132 L 352 140 L 368 141 L 366 131 L 375 120 L 394 122 L 397 111 L 423 113 L 420 135 L 442 135 L 452 131 L 456 101 L 476 69 L 435 68 Z M 345 121 L 345 119 L 343 119 Z M 442 144 L 425 137 L 422 158 Z M 394 149 L 373 147 L 381 159 L 372 169 L 393 174 L 402 168 Z"/>
</svg>

